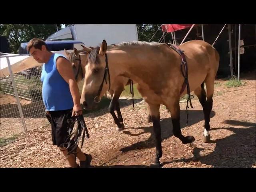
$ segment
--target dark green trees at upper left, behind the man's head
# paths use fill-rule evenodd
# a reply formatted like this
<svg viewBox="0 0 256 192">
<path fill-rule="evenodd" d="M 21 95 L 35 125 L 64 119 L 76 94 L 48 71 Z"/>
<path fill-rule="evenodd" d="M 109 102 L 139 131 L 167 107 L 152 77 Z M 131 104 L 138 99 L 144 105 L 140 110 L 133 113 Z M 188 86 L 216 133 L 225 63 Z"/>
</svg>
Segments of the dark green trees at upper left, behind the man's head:
<svg viewBox="0 0 256 192">
<path fill-rule="evenodd" d="M 37 37 L 46 40 L 60 30 L 61 24 L 0 24 L 0 35 L 5 36 L 12 53 L 18 53 L 20 43 Z"/>
</svg>

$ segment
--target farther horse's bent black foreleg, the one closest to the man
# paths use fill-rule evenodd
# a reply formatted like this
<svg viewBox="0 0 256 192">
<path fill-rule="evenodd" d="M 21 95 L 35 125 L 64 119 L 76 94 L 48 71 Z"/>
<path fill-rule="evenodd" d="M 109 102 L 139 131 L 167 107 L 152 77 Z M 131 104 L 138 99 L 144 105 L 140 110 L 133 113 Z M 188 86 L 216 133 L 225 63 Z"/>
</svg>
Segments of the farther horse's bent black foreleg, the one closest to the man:
<svg viewBox="0 0 256 192">
<path fill-rule="evenodd" d="M 109 111 L 110 114 L 112 115 L 112 117 L 113 117 L 113 119 L 114 119 L 114 121 L 115 121 L 115 124 L 118 126 L 118 128 L 116 128 L 117 131 L 121 131 L 121 130 L 124 129 L 124 124 L 121 123 L 121 122 L 118 120 L 118 118 L 117 118 L 117 116 L 116 116 L 116 114 L 115 114 L 116 104 L 118 103 L 118 99 L 119 99 L 121 93 L 122 93 L 122 91 L 119 91 L 119 90 L 117 90 L 117 91 L 114 92 L 114 94 L 113 94 L 113 96 L 112 96 L 112 100 L 111 100 L 110 105 L 109 105 L 109 107 L 108 107 L 108 111 Z M 119 106 L 119 104 L 118 104 L 118 106 Z M 119 111 L 120 111 L 120 108 L 119 108 Z M 122 116 L 121 116 L 121 117 L 122 117 Z"/>
</svg>

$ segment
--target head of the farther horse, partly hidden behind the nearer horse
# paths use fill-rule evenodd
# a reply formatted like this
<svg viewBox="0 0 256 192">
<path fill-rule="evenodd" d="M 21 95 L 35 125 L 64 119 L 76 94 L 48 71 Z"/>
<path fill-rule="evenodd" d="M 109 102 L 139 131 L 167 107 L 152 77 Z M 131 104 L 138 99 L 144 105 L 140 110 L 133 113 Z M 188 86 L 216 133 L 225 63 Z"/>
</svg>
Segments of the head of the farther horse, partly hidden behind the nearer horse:
<svg viewBox="0 0 256 192">
<path fill-rule="evenodd" d="M 81 52 L 83 52 L 83 53 L 81 53 Z M 84 78 L 85 65 L 87 62 L 88 53 L 84 52 L 84 50 L 78 51 L 76 48 L 74 48 L 74 52 L 70 53 L 67 50 L 65 50 L 65 53 L 68 57 L 68 60 L 72 64 L 76 82 L 80 82 L 82 80 L 82 78 Z"/>
</svg>

